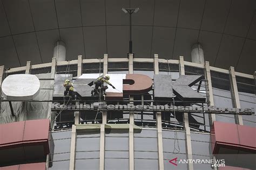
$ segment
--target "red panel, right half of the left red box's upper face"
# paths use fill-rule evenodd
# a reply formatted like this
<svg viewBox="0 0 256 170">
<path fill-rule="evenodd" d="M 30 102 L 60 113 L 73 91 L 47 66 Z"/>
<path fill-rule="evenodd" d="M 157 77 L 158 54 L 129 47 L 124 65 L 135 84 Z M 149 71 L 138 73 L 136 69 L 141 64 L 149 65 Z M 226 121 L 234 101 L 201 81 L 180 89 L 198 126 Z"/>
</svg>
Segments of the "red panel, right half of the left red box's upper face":
<svg viewBox="0 0 256 170">
<path fill-rule="evenodd" d="M 27 120 L 23 141 L 48 139 L 49 125 L 49 119 Z"/>
</svg>

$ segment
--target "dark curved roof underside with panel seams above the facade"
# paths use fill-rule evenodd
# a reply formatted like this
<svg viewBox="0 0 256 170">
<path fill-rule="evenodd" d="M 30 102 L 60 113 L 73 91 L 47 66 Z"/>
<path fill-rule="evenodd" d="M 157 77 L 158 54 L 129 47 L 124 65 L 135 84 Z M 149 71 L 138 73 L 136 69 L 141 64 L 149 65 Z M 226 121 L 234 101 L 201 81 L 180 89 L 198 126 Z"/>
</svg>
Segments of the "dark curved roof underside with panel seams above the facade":
<svg viewBox="0 0 256 170">
<path fill-rule="evenodd" d="M 129 15 L 133 52 L 138 58 L 191 61 L 199 42 L 210 65 L 253 74 L 256 70 L 255 0 L 2 0 L 0 65 L 51 62 L 57 40 L 66 59 L 126 57 Z"/>
</svg>

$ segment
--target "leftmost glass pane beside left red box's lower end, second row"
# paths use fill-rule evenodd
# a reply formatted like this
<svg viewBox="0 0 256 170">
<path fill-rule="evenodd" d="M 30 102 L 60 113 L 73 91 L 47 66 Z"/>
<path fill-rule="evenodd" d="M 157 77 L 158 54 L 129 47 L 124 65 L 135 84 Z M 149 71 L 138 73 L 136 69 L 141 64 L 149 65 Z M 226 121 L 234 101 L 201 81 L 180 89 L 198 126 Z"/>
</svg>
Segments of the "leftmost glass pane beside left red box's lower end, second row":
<svg viewBox="0 0 256 170">
<path fill-rule="evenodd" d="M 60 139 L 54 140 L 54 152 L 53 153 L 64 153 L 70 152 L 71 139 Z"/>
</svg>

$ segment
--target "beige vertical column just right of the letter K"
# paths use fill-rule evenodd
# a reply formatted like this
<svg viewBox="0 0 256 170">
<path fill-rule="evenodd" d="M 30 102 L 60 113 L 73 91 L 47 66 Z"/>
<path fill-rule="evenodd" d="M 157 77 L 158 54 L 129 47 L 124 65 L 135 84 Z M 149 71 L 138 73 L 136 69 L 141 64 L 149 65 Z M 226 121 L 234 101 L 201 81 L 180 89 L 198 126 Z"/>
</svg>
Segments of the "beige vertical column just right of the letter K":
<svg viewBox="0 0 256 170">
<path fill-rule="evenodd" d="M 207 80 L 207 100 L 209 101 L 208 106 L 214 106 L 213 91 L 212 91 L 212 78 L 210 71 L 210 63 L 205 62 L 205 79 Z M 212 126 L 213 121 L 216 120 L 215 114 L 208 114 L 210 119 L 210 125 Z"/>
</svg>

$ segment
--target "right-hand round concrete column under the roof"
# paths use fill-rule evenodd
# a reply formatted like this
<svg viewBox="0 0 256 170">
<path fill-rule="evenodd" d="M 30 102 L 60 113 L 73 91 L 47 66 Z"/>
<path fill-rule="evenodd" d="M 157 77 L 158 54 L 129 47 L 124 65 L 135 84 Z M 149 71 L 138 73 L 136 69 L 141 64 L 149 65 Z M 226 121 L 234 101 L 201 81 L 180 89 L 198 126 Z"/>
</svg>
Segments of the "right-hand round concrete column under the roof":
<svg viewBox="0 0 256 170">
<path fill-rule="evenodd" d="M 203 51 L 203 47 L 201 46 L 201 44 L 197 43 L 192 46 L 191 57 L 192 57 L 193 63 L 198 63 L 198 64 L 205 63 L 204 51 Z"/>
</svg>

